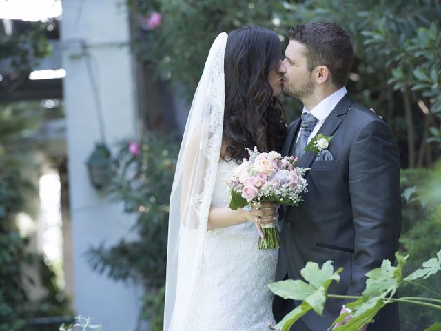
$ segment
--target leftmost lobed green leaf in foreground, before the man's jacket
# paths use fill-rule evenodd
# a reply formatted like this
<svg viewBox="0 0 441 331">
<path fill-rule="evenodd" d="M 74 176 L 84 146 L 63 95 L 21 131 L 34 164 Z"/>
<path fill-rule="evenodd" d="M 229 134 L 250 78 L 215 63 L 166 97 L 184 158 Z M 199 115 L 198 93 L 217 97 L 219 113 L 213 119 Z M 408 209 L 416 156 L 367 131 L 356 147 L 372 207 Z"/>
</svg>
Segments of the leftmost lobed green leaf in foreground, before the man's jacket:
<svg viewBox="0 0 441 331">
<path fill-rule="evenodd" d="M 332 281 L 340 281 L 340 272 L 343 268 L 339 268 L 334 272 L 332 261 L 323 263 L 322 268 L 317 263 L 308 262 L 300 273 L 308 283 L 300 280 L 287 280 L 271 283 L 268 285 L 269 290 L 284 299 L 294 299 L 304 301 L 300 306 L 290 312 L 285 319 L 280 321 L 276 328 L 289 330 L 300 317 L 313 309 L 320 316 L 325 306 L 326 293 Z"/>
</svg>

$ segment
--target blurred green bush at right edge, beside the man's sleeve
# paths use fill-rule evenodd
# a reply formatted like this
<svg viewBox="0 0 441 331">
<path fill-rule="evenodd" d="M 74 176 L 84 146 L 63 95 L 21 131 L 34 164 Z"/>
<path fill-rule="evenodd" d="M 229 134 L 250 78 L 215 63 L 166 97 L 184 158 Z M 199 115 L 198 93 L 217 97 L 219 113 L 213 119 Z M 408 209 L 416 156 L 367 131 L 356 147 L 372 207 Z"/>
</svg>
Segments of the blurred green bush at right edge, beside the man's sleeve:
<svg viewBox="0 0 441 331">
<path fill-rule="evenodd" d="M 403 190 L 403 232 L 400 237 L 402 253 L 411 259 L 404 266 L 404 272 L 418 268 L 427 257 L 434 256 L 441 248 L 441 208 L 438 201 L 424 199 L 433 185 L 441 185 L 440 170 L 413 169 L 402 171 Z M 409 194 L 411 191 L 412 194 Z M 405 193 L 408 194 L 405 194 Z M 439 195 L 439 194 L 437 194 Z M 406 196 L 406 197 L 404 197 Z M 422 285 L 441 294 L 441 277 L 420 281 Z M 424 288 L 400 288 L 400 297 L 433 296 Z M 436 310 L 413 305 L 400 305 L 400 321 L 403 331 L 419 331 L 432 325 L 439 317 Z"/>
</svg>

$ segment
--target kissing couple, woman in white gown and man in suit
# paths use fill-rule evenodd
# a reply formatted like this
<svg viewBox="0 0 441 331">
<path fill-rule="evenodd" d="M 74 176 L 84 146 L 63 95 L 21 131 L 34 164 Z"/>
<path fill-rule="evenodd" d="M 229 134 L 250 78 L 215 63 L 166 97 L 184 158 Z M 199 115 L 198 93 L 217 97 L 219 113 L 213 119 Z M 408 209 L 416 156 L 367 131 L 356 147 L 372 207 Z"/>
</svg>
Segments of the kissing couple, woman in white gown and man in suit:
<svg viewBox="0 0 441 331">
<path fill-rule="evenodd" d="M 209 50 L 176 166 L 170 197 L 165 331 L 269 330 L 300 302 L 267 285 L 302 279 L 307 261 L 343 267 L 332 294 L 360 295 L 365 274 L 394 260 L 401 228 L 396 139 L 382 119 L 353 101 L 349 34 L 335 23 L 297 25 L 280 60 L 278 35 L 258 26 L 220 33 Z M 287 125 L 277 97 L 300 99 Z M 305 147 L 332 137 L 319 154 Z M 297 207 L 261 203 L 232 210 L 225 186 L 246 148 L 280 152 L 310 168 Z M 279 249 L 257 250 L 256 230 L 277 221 Z M 329 299 L 291 330 L 327 330 L 345 301 Z M 345 322 L 343 322 L 345 323 Z M 387 305 L 361 330 L 399 330 Z"/>
</svg>

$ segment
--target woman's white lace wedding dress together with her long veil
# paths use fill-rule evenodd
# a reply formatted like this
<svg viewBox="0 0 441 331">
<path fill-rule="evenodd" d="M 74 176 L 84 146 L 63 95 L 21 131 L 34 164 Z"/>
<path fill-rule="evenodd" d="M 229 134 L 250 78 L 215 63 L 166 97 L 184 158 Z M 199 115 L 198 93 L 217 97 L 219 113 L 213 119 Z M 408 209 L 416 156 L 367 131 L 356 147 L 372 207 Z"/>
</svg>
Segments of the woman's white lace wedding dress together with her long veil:
<svg viewBox="0 0 441 331">
<path fill-rule="evenodd" d="M 238 165 L 218 162 L 225 112 L 227 34 L 216 37 L 194 94 L 170 194 L 164 331 L 269 330 L 277 250 L 257 249 L 251 222 L 207 230 L 227 206 Z"/>
</svg>

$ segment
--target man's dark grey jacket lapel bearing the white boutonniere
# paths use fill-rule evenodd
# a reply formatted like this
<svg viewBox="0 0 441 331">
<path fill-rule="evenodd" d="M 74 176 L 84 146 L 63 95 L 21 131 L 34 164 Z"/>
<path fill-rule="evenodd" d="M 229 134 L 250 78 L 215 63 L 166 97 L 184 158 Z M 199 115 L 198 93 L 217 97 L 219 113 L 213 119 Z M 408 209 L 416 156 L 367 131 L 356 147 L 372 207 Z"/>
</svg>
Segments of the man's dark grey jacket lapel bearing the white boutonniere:
<svg viewBox="0 0 441 331">
<path fill-rule="evenodd" d="M 347 114 L 353 100 L 349 93 L 345 94 L 337 106 L 332 110 L 331 114 L 325 120 L 325 123 L 322 124 L 320 130 L 318 130 L 318 134 L 323 134 L 324 136 L 332 136 L 338 127 L 341 125 L 344 115 Z M 300 161 L 298 161 L 298 167 L 301 168 L 309 168 L 311 166 L 312 161 L 316 158 L 316 153 L 307 151 L 303 154 Z"/>
</svg>

